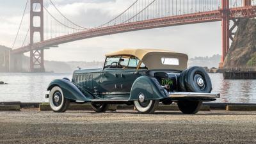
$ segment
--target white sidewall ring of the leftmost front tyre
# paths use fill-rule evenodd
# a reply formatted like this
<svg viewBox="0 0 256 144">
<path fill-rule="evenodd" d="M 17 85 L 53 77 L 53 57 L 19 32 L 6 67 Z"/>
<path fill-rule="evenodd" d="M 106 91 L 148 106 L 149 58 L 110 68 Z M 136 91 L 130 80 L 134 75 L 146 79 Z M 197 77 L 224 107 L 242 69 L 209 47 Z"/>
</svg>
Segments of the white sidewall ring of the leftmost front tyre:
<svg viewBox="0 0 256 144">
<path fill-rule="evenodd" d="M 54 103 L 53 103 L 52 97 L 54 97 L 53 94 L 54 94 L 54 92 L 56 92 L 56 91 L 60 91 L 60 93 L 61 93 L 61 98 L 62 98 L 62 100 L 61 100 L 60 106 L 55 106 Z M 54 110 L 54 111 L 59 111 L 59 110 L 62 108 L 62 106 L 63 106 L 64 99 L 65 99 L 65 98 L 64 98 L 64 96 L 63 96 L 63 93 L 62 93 L 61 88 L 60 88 L 59 86 L 54 86 L 54 87 L 52 88 L 52 90 L 50 91 L 50 93 L 49 93 L 49 104 L 50 104 L 52 110 Z"/>
</svg>

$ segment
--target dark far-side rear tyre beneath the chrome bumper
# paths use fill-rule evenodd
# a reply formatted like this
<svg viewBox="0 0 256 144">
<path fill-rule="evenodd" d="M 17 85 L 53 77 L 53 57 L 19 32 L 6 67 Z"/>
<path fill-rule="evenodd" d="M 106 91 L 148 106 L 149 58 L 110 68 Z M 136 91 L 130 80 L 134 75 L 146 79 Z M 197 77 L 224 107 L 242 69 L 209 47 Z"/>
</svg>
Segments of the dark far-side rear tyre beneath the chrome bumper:
<svg viewBox="0 0 256 144">
<path fill-rule="evenodd" d="M 180 100 L 178 107 L 184 114 L 196 114 L 202 107 L 202 101 Z"/>
</svg>

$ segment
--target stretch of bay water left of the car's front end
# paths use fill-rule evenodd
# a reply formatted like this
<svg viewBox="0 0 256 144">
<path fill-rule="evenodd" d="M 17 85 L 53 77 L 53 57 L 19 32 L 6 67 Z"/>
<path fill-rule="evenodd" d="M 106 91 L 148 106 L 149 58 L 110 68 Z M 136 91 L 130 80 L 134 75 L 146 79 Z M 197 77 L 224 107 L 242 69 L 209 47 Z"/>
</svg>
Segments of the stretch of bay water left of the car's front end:
<svg viewBox="0 0 256 144">
<path fill-rule="evenodd" d="M 45 92 L 53 79 L 72 77 L 72 72 L 55 73 L 0 73 L 0 102 L 47 102 Z"/>
</svg>

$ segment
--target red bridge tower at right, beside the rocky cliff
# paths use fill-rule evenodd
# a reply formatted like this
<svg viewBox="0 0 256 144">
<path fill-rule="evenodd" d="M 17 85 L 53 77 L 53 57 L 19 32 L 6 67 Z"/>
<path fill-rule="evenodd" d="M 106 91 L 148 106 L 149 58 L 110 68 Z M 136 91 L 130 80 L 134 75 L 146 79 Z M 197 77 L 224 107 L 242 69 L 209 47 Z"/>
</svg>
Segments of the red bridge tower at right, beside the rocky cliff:
<svg viewBox="0 0 256 144">
<path fill-rule="evenodd" d="M 243 6 L 251 6 L 252 0 L 243 0 Z M 234 29 L 239 24 L 239 19 L 230 19 L 230 8 L 229 8 L 229 0 L 221 0 L 221 10 L 222 10 L 222 56 L 221 56 L 221 63 L 220 68 L 223 67 L 223 61 L 227 56 L 228 49 L 230 47 L 230 40 L 233 41 L 234 39 Z M 233 21 L 233 26 L 230 27 L 230 20 Z"/>
</svg>

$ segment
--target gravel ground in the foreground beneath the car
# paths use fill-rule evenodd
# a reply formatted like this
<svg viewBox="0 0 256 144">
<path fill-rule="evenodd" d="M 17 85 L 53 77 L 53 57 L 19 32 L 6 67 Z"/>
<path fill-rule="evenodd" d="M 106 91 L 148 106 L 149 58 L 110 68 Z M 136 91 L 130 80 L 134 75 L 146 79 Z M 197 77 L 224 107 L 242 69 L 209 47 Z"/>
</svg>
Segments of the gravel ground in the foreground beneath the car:
<svg viewBox="0 0 256 144">
<path fill-rule="evenodd" d="M 256 112 L 0 112 L 0 143 L 256 143 Z"/>
</svg>

